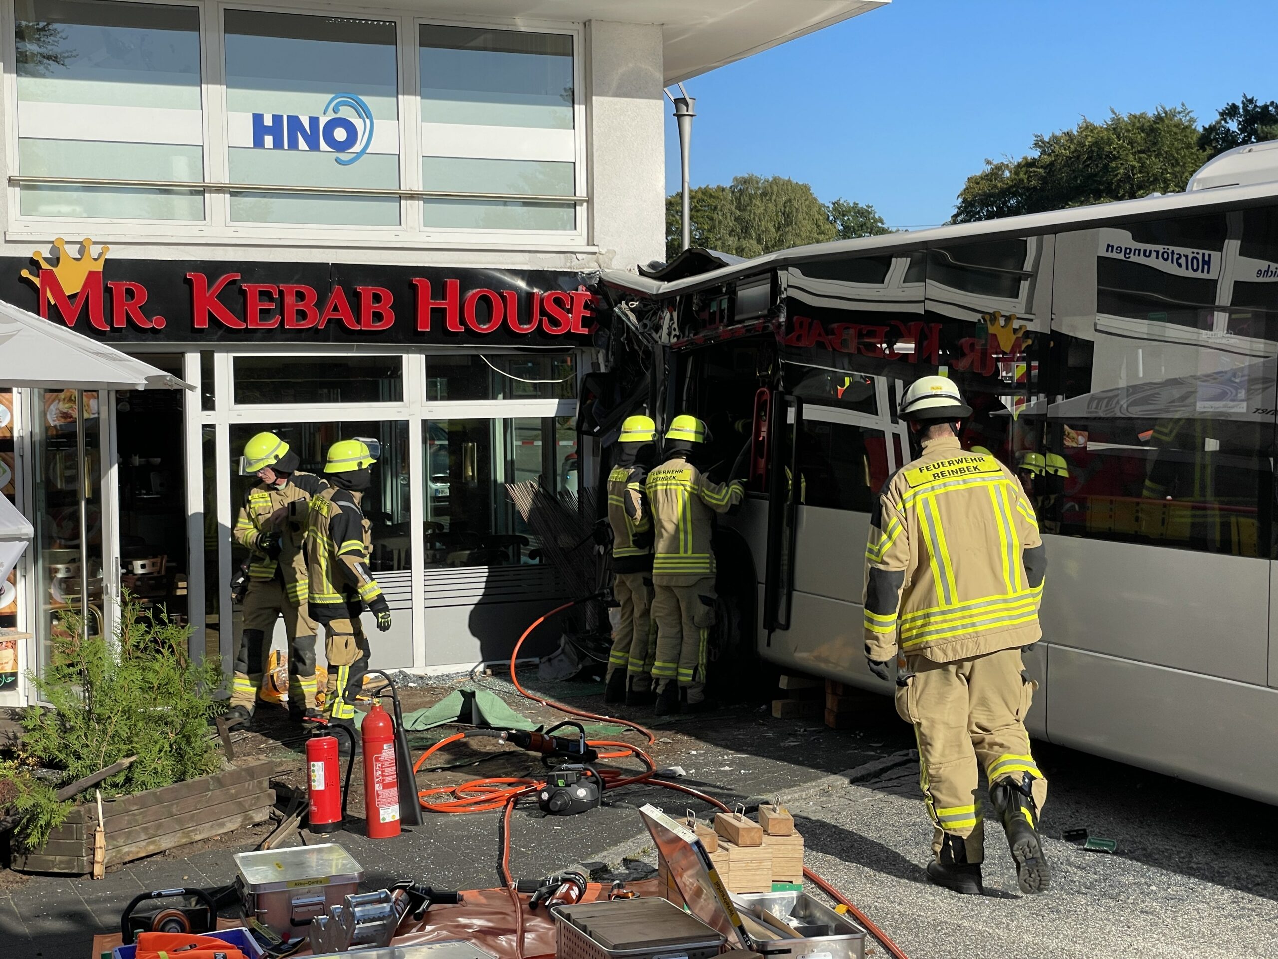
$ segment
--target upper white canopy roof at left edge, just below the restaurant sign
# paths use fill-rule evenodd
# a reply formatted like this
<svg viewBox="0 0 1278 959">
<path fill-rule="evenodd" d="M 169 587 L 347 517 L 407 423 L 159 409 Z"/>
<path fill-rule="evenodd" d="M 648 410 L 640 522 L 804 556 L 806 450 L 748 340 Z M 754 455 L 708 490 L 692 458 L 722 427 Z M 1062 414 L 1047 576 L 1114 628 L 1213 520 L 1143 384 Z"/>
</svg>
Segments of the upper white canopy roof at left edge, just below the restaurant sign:
<svg viewBox="0 0 1278 959">
<path fill-rule="evenodd" d="M 0 300 L 0 386 L 174 389 L 190 384 Z"/>
</svg>

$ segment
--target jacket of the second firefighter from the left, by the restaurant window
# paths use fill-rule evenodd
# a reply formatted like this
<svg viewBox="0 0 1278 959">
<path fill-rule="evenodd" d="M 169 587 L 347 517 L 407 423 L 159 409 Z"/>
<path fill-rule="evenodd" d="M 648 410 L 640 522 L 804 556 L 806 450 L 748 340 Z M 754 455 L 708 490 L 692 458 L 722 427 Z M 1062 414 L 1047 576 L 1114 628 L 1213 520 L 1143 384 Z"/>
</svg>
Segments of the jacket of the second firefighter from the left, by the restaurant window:
<svg viewBox="0 0 1278 959">
<path fill-rule="evenodd" d="M 326 618 L 326 610 L 345 616 L 346 606 L 367 602 L 374 612 L 387 609 L 382 588 L 368 566 L 372 527 L 364 519 L 357 494 L 330 487 L 311 497 L 307 520 L 307 572 L 309 612 Z"/>
</svg>

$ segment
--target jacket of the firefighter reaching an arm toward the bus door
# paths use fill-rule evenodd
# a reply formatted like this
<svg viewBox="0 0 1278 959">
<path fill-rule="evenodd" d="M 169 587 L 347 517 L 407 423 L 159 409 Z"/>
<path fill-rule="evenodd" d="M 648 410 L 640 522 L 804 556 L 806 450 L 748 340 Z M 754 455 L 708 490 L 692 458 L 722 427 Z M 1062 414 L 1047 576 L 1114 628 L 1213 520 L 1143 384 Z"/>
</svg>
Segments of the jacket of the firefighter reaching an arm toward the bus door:
<svg viewBox="0 0 1278 959">
<path fill-rule="evenodd" d="M 714 575 L 711 536 L 714 513 L 727 513 L 741 503 L 740 483 L 712 483 L 682 454 L 675 454 L 648 473 L 648 503 L 652 509 L 653 581 L 684 578 L 686 583 Z"/>
</svg>

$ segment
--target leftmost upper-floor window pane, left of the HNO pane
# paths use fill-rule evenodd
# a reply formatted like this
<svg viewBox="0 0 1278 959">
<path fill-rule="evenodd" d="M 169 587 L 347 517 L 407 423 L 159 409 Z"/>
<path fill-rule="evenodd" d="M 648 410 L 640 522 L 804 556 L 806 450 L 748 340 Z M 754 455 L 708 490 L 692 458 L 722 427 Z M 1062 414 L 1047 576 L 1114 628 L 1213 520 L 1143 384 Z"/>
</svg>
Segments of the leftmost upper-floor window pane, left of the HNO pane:
<svg viewBox="0 0 1278 959">
<path fill-rule="evenodd" d="M 199 12 L 17 0 L 18 173 L 203 179 Z M 23 184 L 24 216 L 203 220 L 201 191 Z"/>
</svg>

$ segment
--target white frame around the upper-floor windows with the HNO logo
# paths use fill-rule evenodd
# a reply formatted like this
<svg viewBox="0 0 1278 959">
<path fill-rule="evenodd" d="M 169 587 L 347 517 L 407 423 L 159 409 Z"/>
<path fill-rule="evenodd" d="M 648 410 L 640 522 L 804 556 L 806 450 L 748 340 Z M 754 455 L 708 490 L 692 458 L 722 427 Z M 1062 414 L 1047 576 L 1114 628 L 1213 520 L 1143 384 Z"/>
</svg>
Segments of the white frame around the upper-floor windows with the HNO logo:
<svg viewBox="0 0 1278 959">
<path fill-rule="evenodd" d="M 443 27 L 491 28 L 527 33 L 557 33 L 573 38 L 573 134 L 574 182 L 578 197 L 589 197 L 587 170 L 587 110 L 584 82 L 584 27 L 581 23 L 493 18 L 419 17 L 408 0 L 396 5 L 364 6 L 353 3 L 317 6 L 308 0 L 273 0 L 273 3 L 234 3 L 233 0 L 112 0 L 114 3 L 147 3 L 169 6 L 194 6 L 199 12 L 201 105 L 203 113 L 203 170 L 206 183 L 226 183 L 229 151 L 226 136 L 225 32 L 227 9 L 300 15 L 368 18 L 395 23 L 396 56 L 399 60 L 399 124 L 400 184 L 404 191 L 422 191 L 422 97 L 418 33 L 422 24 Z M 12 121 L 6 124 L 6 159 L 9 175 L 18 169 L 18 83 L 17 83 L 17 15 L 13 0 L 0 0 L 0 43 L 4 64 L 4 104 Z M 216 119 L 215 119 L 216 118 Z M 118 243 L 193 243 L 217 246 L 234 242 L 240 247 L 302 248 L 405 248 L 405 249 L 537 249 L 541 252 L 593 252 L 589 243 L 589 198 L 575 201 L 575 229 L 564 231 L 443 229 L 422 228 L 422 197 L 400 197 L 397 226 L 325 226 L 322 224 L 252 224 L 230 220 L 230 192 L 204 189 L 203 220 L 125 220 L 105 217 L 24 216 L 20 212 L 20 187 L 6 183 L 9 221 L 5 239 L 10 242 L 43 242 L 50 231 L 93 235 L 110 231 Z M 286 189 L 286 188 L 281 188 Z M 123 228 L 123 229 L 121 229 Z"/>
</svg>

